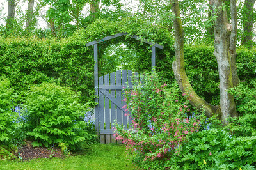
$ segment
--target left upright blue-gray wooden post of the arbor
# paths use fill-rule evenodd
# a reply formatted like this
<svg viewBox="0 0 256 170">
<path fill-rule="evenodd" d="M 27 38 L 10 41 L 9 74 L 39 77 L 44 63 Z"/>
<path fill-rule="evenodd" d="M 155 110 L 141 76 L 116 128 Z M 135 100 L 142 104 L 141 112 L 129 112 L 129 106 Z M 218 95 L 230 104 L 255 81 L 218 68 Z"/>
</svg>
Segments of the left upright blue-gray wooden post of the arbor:
<svg viewBox="0 0 256 170">
<path fill-rule="evenodd" d="M 98 87 L 98 46 L 94 45 L 94 87 L 95 87 L 95 96 L 99 95 Z M 99 102 L 98 98 L 95 98 L 95 103 Z M 97 134 L 99 134 L 99 104 L 94 107 L 94 115 L 95 115 L 95 130 Z"/>
</svg>

